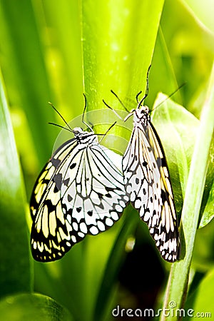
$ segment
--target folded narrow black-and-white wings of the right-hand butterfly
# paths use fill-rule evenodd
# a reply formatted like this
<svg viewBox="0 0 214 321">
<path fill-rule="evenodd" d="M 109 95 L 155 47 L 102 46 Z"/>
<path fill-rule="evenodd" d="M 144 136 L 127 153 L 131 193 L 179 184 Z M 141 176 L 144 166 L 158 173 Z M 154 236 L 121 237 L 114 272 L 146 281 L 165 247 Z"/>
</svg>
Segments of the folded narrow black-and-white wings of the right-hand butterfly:
<svg viewBox="0 0 214 321">
<path fill-rule="evenodd" d="M 168 167 L 153 125 L 136 125 L 123 156 L 125 188 L 148 228 L 162 257 L 178 260 L 178 223 Z"/>
</svg>

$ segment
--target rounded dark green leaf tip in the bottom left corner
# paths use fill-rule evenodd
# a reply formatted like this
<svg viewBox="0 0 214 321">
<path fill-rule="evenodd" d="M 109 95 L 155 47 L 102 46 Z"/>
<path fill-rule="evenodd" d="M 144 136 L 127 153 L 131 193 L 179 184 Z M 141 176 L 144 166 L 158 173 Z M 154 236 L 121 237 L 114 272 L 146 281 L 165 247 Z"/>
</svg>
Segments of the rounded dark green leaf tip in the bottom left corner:
<svg viewBox="0 0 214 321">
<path fill-rule="evenodd" d="M 39 294 L 19 294 L 0 301 L 1 320 L 72 321 L 68 310 L 58 302 Z"/>
</svg>

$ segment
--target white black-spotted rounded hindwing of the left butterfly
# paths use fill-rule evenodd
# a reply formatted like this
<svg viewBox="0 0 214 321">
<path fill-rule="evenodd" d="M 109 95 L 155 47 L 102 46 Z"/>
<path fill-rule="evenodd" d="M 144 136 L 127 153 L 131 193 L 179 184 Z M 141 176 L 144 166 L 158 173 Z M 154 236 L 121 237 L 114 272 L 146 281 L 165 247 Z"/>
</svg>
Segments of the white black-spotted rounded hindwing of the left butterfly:
<svg viewBox="0 0 214 321">
<path fill-rule="evenodd" d="M 62 168 L 65 175 L 61 203 L 73 229 L 73 242 L 83 239 L 86 234 L 96 235 L 110 228 L 128 202 L 122 168 L 114 165 L 107 151 L 110 152 L 94 144 L 81 155 L 71 157 L 69 164 Z"/>
</svg>

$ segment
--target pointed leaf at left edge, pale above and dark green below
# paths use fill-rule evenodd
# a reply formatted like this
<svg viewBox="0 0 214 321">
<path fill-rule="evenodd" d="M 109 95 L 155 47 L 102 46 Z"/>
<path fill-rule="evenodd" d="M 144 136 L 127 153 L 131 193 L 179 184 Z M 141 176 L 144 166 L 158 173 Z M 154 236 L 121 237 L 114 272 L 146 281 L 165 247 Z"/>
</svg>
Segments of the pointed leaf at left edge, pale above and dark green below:
<svg viewBox="0 0 214 321">
<path fill-rule="evenodd" d="M 26 199 L 14 133 L 0 75 L 0 295 L 30 291 Z"/>
</svg>

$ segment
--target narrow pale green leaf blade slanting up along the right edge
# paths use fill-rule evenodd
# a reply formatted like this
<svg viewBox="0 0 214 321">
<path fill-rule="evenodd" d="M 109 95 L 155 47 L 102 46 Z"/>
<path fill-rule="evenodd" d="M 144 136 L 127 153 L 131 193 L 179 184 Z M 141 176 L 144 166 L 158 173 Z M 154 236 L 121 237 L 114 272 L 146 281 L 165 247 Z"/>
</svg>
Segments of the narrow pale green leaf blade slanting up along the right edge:
<svg viewBox="0 0 214 321">
<path fill-rule="evenodd" d="M 178 307 L 183 307 L 185 293 L 188 285 L 188 274 L 193 254 L 195 233 L 200 214 L 200 205 L 205 187 L 205 176 L 208 168 L 208 156 L 214 128 L 214 64 L 210 76 L 207 97 L 203 106 L 200 126 L 195 141 L 193 158 L 188 175 L 188 183 L 185 190 L 183 212 L 181 218 L 181 243 L 182 253 L 180 261 L 174 263 L 168 288 L 165 293 L 164 307 L 167 308 L 170 301 L 175 301 Z M 203 153 L 202 153 L 203 151 Z M 162 319 L 165 316 L 162 315 Z M 168 320 L 177 320 L 175 316 Z"/>
</svg>

